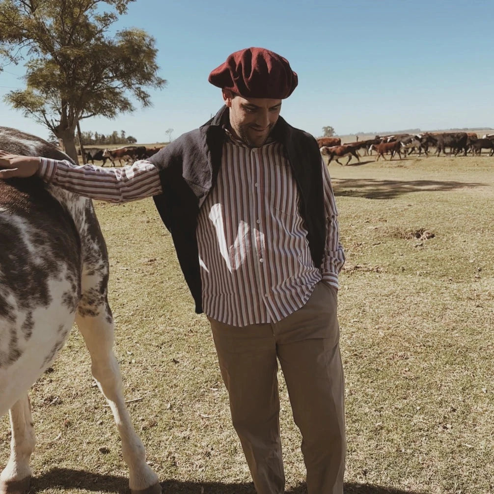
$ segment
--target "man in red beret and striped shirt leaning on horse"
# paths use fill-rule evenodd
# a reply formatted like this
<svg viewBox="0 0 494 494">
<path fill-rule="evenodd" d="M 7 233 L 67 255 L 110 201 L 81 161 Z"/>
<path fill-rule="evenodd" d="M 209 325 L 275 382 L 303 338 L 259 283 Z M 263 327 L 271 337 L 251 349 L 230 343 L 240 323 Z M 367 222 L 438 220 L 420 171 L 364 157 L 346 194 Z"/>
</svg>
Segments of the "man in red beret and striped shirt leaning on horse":
<svg viewBox="0 0 494 494">
<path fill-rule="evenodd" d="M 302 434 L 309 494 L 341 494 L 343 371 L 336 317 L 344 263 L 316 140 L 280 115 L 295 89 L 288 61 L 231 54 L 209 82 L 225 106 L 159 153 L 123 168 L 0 152 L 0 178 L 38 173 L 94 199 L 153 196 L 185 280 L 211 324 L 221 374 L 259 494 L 282 494 L 277 360 Z"/>
</svg>

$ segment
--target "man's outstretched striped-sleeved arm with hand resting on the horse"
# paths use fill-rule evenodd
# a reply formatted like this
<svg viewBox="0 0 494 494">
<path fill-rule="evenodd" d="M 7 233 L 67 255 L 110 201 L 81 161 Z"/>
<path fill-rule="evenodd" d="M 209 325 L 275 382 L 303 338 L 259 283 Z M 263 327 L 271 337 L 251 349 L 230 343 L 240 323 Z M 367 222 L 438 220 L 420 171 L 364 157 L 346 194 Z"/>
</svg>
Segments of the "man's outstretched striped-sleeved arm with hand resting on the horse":
<svg viewBox="0 0 494 494">
<path fill-rule="evenodd" d="M 9 155 L 0 151 L 0 179 L 40 176 L 45 182 L 84 197 L 124 203 L 162 193 L 158 169 L 146 160 L 133 165 L 109 167 L 73 165 L 67 160 L 50 160 Z"/>
</svg>

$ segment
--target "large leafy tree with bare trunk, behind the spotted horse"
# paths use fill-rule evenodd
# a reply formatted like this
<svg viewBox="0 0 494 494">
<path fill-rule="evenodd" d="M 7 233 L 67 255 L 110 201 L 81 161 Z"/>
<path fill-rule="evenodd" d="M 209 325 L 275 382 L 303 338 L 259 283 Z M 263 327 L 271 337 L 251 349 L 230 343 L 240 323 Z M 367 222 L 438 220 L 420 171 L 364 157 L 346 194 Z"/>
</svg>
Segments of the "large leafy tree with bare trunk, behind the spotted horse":
<svg viewBox="0 0 494 494">
<path fill-rule="evenodd" d="M 133 111 L 129 95 L 150 106 L 144 87 L 165 86 L 154 38 L 136 28 L 108 35 L 130 1 L 0 1 L 0 56 L 27 59 L 26 88 L 5 100 L 51 130 L 76 160 L 80 120 Z"/>
</svg>

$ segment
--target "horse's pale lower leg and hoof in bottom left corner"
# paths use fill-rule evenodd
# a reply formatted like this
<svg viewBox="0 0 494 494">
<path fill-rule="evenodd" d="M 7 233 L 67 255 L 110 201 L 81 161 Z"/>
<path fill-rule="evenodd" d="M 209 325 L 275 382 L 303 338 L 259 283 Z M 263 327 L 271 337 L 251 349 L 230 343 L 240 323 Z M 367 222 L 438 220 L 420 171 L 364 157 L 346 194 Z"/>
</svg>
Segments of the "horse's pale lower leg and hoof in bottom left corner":
<svg viewBox="0 0 494 494">
<path fill-rule="evenodd" d="M 9 415 L 12 430 L 10 458 L 0 475 L 0 494 L 23 494 L 28 491 L 31 483 L 29 462 L 36 444 L 27 394 L 14 403 Z"/>
</svg>

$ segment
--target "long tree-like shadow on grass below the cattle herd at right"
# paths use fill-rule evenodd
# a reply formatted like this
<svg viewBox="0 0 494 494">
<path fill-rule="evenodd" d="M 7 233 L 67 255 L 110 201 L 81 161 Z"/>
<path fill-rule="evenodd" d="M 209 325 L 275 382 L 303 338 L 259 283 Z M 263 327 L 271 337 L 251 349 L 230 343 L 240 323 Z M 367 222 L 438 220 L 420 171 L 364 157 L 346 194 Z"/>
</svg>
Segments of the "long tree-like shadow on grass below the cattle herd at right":
<svg viewBox="0 0 494 494">
<path fill-rule="evenodd" d="M 483 183 L 435 180 L 376 180 L 373 178 L 333 178 L 336 196 L 363 197 L 366 199 L 394 199 L 411 192 L 447 192 L 464 187 L 485 187 Z"/>
</svg>

